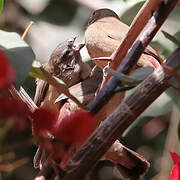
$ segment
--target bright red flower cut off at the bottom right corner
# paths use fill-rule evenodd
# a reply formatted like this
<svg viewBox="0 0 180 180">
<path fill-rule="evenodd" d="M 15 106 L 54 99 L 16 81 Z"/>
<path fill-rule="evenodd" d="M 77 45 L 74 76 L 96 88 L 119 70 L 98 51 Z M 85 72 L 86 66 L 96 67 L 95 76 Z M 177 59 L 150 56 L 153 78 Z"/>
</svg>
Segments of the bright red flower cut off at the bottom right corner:
<svg viewBox="0 0 180 180">
<path fill-rule="evenodd" d="M 170 180 L 180 180 L 180 156 L 174 152 L 170 152 L 174 166 L 171 171 Z"/>
</svg>

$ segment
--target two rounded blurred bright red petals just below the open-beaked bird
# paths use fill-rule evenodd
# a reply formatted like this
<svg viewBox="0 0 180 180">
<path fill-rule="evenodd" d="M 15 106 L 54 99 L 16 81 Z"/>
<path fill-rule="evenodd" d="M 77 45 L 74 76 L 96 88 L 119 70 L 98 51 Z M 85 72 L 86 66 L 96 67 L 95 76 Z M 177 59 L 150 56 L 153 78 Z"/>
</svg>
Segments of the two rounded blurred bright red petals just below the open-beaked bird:
<svg viewBox="0 0 180 180">
<path fill-rule="evenodd" d="M 93 131 L 94 118 L 88 112 L 76 110 L 67 115 L 60 111 L 57 115 L 52 109 L 38 108 L 32 115 L 35 135 L 45 137 L 52 134 L 61 141 L 79 143 L 85 141 Z"/>
</svg>

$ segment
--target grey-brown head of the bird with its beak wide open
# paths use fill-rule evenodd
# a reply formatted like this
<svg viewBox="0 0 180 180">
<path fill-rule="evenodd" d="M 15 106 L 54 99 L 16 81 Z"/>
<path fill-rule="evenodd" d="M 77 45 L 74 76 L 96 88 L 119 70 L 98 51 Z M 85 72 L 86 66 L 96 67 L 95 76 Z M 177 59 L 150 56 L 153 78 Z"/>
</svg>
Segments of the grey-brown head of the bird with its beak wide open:
<svg viewBox="0 0 180 180">
<path fill-rule="evenodd" d="M 68 86 L 79 81 L 82 58 L 80 50 L 84 44 L 75 45 L 76 38 L 60 43 L 50 57 L 53 75 L 65 81 Z"/>
</svg>

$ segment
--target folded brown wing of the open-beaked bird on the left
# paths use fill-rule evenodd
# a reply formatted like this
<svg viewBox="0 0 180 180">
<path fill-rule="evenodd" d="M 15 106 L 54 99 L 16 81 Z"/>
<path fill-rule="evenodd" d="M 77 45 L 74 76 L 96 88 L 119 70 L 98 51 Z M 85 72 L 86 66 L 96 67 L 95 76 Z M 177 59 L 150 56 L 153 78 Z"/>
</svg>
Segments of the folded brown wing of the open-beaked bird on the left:
<svg viewBox="0 0 180 180">
<path fill-rule="evenodd" d="M 49 84 L 43 80 L 36 80 L 36 93 L 34 96 L 34 103 L 39 106 L 44 100 Z"/>
</svg>

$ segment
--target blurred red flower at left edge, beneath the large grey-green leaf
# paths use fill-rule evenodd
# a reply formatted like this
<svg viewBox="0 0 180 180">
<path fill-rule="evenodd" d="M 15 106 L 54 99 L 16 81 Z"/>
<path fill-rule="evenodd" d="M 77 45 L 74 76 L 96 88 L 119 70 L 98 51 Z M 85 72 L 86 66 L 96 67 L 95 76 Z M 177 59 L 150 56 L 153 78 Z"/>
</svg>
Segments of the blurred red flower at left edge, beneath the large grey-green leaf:
<svg viewBox="0 0 180 180">
<path fill-rule="evenodd" d="M 6 89 L 15 80 L 14 71 L 12 70 L 5 54 L 0 51 L 0 89 Z"/>
</svg>

